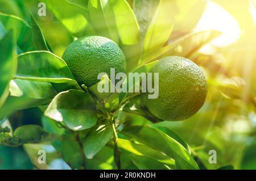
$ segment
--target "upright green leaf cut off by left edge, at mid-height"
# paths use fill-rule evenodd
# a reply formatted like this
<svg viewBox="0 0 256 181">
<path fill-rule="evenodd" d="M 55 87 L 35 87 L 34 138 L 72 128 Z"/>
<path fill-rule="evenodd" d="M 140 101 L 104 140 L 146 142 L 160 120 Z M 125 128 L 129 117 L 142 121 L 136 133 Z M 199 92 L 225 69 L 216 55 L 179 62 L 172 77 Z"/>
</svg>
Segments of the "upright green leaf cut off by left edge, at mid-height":
<svg viewBox="0 0 256 181">
<path fill-rule="evenodd" d="M 15 54 L 15 44 L 13 38 L 13 31 L 7 33 L 5 37 L 0 41 L 1 49 L 1 61 L 0 61 L 0 107 L 5 102 L 7 96 L 9 95 L 9 83 L 14 77 L 17 60 Z"/>
</svg>

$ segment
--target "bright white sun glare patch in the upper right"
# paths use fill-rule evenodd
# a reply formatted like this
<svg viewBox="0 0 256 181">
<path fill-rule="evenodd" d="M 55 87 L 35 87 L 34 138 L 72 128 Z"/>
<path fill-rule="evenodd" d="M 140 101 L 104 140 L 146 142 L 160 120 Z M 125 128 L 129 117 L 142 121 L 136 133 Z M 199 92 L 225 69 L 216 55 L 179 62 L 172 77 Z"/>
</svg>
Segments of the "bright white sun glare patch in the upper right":
<svg viewBox="0 0 256 181">
<path fill-rule="evenodd" d="M 212 41 L 217 47 L 225 47 L 235 43 L 241 35 L 241 29 L 236 19 L 212 1 L 208 1 L 204 14 L 197 24 L 195 31 L 217 30 L 222 35 Z"/>
</svg>

